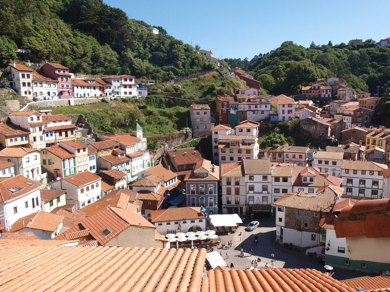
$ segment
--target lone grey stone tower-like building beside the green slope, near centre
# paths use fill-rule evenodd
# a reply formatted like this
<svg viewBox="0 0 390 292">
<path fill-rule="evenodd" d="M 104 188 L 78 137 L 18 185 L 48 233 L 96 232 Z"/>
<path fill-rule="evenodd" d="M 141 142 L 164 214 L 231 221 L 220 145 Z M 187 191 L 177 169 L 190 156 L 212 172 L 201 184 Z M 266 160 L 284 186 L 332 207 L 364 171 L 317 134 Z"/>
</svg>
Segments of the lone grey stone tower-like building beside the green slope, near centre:
<svg viewBox="0 0 390 292">
<path fill-rule="evenodd" d="M 192 125 L 192 136 L 209 134 L 214 127 L 211 123 L 210 107 L 207 104 L 191 104 L 190 119 Z"/>
</svg>

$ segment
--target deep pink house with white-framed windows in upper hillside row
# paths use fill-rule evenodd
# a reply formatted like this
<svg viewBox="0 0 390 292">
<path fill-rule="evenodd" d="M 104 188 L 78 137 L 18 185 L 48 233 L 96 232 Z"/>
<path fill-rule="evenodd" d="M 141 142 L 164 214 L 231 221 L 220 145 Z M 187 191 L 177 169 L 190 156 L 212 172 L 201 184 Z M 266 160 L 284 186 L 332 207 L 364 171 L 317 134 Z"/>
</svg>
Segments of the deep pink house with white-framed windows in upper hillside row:
<svg viewBox="0 0 390 292">
<path fill-rule="evenodd" d="M 69 68 L 57 63 L 48 63 L 42 66 L 43 73 L 58 81 L 58 97 L 69 99 L 73 97 L 72 76 Z"/>
</svg>

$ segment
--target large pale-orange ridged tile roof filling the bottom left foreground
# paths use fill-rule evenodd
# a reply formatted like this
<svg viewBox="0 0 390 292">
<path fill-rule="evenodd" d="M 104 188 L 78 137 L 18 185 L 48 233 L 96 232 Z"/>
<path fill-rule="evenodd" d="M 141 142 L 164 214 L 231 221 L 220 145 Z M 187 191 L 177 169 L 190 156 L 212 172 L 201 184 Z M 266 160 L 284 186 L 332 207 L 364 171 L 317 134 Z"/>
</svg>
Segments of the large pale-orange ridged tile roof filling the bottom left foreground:
<svg viewBox="0 0 390 292">
<path fill-rule="evenodd" d="M 206 259 L 204 249 L 176 251 L 116 246 L 2 245 L 0 252 L 3 259 L 0 267 L 7 279 L 0 283 L 3 291 L 34 287 L 57 292 L 92 287 L 107 292 L 200 291 Z"/>
</svg>

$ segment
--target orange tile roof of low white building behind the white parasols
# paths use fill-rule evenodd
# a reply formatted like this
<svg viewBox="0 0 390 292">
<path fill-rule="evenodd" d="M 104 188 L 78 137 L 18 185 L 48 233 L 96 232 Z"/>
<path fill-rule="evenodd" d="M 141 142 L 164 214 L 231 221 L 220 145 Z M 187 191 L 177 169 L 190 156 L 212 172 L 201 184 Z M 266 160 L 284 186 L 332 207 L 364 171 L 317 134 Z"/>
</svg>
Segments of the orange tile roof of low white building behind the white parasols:
<svg viewBox="0 0 390 292">
<path fill-rule="evenodd" d="M 179 221 L 205 218 L 200 207 L 168 208 L 151 211 L 151 222 Z"/>
</svg>

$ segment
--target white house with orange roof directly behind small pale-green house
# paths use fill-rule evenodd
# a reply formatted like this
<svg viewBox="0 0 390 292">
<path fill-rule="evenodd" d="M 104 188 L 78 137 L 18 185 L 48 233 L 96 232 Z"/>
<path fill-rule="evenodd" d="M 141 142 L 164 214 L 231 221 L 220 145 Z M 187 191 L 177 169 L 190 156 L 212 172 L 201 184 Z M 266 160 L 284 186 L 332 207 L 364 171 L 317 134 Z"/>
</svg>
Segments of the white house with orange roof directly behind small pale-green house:
<svg viewBox="0 0 390 292">
<path fill-rule="evenodd" d="M 66 190 L 66 204 L 83 208 L 101 198 L 101 177 L 84 171 L 51 184 L 55 190 Z"/>
</svg>

